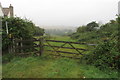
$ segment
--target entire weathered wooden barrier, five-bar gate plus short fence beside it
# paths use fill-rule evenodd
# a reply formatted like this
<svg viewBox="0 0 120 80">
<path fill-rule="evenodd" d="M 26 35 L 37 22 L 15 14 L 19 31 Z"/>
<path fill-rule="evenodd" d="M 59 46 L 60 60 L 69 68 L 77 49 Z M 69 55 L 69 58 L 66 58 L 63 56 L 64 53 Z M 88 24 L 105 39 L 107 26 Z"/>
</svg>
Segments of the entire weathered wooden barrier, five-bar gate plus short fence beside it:
<svg viewBox="0 0 120 80">
<path fill-rule="evenodd" d="M 23 42 L 29 42 L 29 41 L 31 41 L 34 44 L 32 46 L 30 46 L 30 45 L 22 45 Z M 56 44 L 60 43 L 60 45 L 53 45 L 51 43 L 56 43 Z M 17 44 L 17 46 L 16 46 L 16 44 Z M 20 44 L 20 45 L 18 45 L 18 44 Z M 69 45 L 69 46 L 66 46 L 66 45 Z M 87 44 L 87 43 L 80 43 L 80 42 L 47 40 L 44 37 L 42 37 L 42 38 L 39 38 L 39 39 L 34 38 L 34 39 L 31 39 L 31 40 L 15 40 L 14 52 L 15 53 L 24 53 L 23 49 L 30 49 L 30 48 L 32 48 L 34 50 L 33 53 L 38 53 L 40 56 L 45 51 L 49 51 L 49 52 L 53 53 L 53 54 L 50 54 L 50 55 L 78 59 L 79 57 L 75 57 L 75 56 L 84 55 L 85 51 L 89 51 L 86 48 L 78 48 L 78 47 L 76 47 L 74 45 L 96 46 L 96 44 Z M 52 49 L 48 50 L 45 47 L 49 47 L 49 48 L 52 48 Z M 70 52 L 70 51 L 63 51 L 63 50 L 60 50 L 60 49 L 67 49 L 67 50 L 69 49 L 69 50 L 72 50 L 72 52 Z M 29 53 L 29 51 L 28 51 L 28 53 Z M 68 56 L 68 55 L 64 56 L 61 53 L 62 54 L 63 53 L 64 54 L 73 54 L 74 56 Z"/>
</svg>

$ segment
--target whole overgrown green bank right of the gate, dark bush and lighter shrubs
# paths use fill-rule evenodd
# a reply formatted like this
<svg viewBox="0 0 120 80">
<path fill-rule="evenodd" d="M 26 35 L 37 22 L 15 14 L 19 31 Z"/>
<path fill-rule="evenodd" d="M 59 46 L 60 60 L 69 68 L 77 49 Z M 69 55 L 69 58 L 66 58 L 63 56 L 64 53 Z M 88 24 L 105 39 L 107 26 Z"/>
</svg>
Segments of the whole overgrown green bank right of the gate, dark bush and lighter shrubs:
<svg viewBox="0 0 120 80">
<path fill-rule="evenodd" d="M 72 38 L 79 41 L 98 44 L 98 46 L 89 54 L 82 56 L 82 61 L 92 64 L 100 69 L 119 69 L 120 52 L 118 49 L 118 27 L 120 27 L 119 17 L 111 20 L 100 29 L 95 29 L 97 23 L 91 22 L 91 26 L 82 26 L 77 32 L 71 35 Z"/>
</svg>

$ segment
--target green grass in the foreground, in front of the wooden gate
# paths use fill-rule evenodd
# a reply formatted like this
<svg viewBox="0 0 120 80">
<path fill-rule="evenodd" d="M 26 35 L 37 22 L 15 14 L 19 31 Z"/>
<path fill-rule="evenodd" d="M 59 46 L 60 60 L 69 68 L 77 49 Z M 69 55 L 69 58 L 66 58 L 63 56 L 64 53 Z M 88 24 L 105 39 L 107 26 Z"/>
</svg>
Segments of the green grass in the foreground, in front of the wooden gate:
<svg viewBox="0 0 120 80">
<path fill-rule="evenodd" d="M 111 73 L 111 74 L 109 74 Z M 14 58 L 3 64 L 3 78 L 116 78 L 115 71 L 103 72 L 68 58 L 42 57 Z"/>
</svg>

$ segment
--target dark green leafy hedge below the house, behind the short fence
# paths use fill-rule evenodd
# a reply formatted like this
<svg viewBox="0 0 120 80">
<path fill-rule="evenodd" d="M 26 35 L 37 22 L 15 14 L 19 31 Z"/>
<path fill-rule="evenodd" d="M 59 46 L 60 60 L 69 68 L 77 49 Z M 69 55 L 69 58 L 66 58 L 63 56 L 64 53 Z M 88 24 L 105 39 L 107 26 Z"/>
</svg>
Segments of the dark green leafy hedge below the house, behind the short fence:
<svg viewBox="0 0 120 80">
<path fill-rule="evenodd" d="M 13 39 L 32 39 L 34 36 L 41 36 L 43 34 L 44 30 L 36 27 L 32 21 L 19 17 L 5 17 L 2 19 L 3 52 L 7 51 L 10 45 L 12 45 Z M 23 45 L 32 45 L 32 42 L 23 43 Z"/>
</svg>

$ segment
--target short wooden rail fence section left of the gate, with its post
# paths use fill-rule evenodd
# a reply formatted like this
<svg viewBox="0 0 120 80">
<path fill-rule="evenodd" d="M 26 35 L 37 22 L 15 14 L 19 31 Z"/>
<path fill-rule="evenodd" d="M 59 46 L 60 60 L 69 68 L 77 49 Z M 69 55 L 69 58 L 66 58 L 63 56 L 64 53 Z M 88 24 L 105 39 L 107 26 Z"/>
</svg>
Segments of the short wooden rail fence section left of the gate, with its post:
<svg viewBox="0 0 120 80">
<path fill-rule="evenodd" d="M 24 46 L 16 45 L 18 43 L 26 43 L 26 42 L 33 42 L 33 45 L 32 46 L 29 46 L 29 45 L 24 45 Z M 39 42 L 39 44 L 36 44 L 34 42 Z M 42 38 L 41 39 L 33 38 L 33 39 L 29 39 L 29 40 L 16 39 L 13 46 L 15 46 L 15 48 L 14 48 L 15 52 L 14 53 L 17 52 L 17 53 L 22 54 L 22 53 L 24 53 L 24 52 L 22 52 L 23 49 L 29 49 L 29 48 L 32 48 L 34 50 L 34 53 L 39 53 L 39 55 L 42 55 L 42 52 L 43 52 L 43 41 L 42 41 Z M 35 49 L 35 47 L 38 47 L 39 50 Z M 27 53 L 25 53 L 25 54 L 27 54 Z"/>
</svg>

